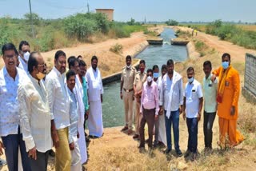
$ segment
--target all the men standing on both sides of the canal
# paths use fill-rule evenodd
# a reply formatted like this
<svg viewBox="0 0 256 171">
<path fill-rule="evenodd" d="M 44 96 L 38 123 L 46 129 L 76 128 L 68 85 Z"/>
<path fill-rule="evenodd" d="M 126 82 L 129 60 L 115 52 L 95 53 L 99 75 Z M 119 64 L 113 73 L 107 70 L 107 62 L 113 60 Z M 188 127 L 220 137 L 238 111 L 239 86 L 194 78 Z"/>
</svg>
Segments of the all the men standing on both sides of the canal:
<svg viewBox="0 0 256 171">
<path fill-rule="evenodd" d="M 0 70 L 0 155 L 6 153 L 10 171 L 18 170 L 18 150 L 23 170 L 46 170 L 49 150 L 56 149 L 55 169 L 82 170 L 87 161 L 85 121 L 90 137 L 102 137 L 102 77 L 98 58 L 91 58 L 91 67 L 81 57 L 58 50 L 54 68 L 46 75 L 46 63 L 38 52 L 30 53 L 30 45 L 22 41 L 19 50 L 12 43 L 2 46 L 5 66 Z M 66 61 L 69 71 L 66 72 Z M 152 149 L 166 145 L 165 153 L 174 149 L 179 157 L 179 116 L 182 114 L 188 129 L 185 156 L 198 153 L 198 121 L 203 112 L 205 149 L 212 149 L 212 127 L 216 113 L 219 122 L 221 148 L 234 147 L 243 141 L 236 129 L 240 80 L 237 70 L 230 65 L 230 54 L 222 55 L 222 66 L 212 72 L 210 61 L 203 64 L 203 85 L 194 78 L 194 68 L 186 70 L 187 83 L 183 89 L 182 75 L 168 60 L 145 72 L 146 62 L 139 62 L 139 71 L 126 57 L 122 69 L 120 97 L 124 101 L 126 125 L 122 131 L 140 140 L 145 148 L 144 127 L 147 123 Z M 217 80 L 218 77 L 218 80 Z M 204 99 L 203 99 L 204 94 Z M 203 105 L 204 104 L 204 105 Z M 134 106 L 135 105 L 135 106 Z M 154 143 L 153 143 L 154 136 Z"/>
</svg>

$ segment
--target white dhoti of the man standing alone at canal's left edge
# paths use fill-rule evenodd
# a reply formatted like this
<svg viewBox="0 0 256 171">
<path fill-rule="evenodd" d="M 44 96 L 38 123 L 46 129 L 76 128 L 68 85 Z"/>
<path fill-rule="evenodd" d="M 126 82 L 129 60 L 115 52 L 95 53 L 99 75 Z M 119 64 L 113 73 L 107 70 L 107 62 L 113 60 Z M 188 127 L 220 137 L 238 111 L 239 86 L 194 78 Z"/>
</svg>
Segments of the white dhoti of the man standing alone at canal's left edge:
<svg viewBox="0 0 256 171">
<path fill-rule="evenodd" d="M 102 137 L 103 122 L 102 122 L 102 102 L 90 101 L 90 113 L 88 116 L 89 135 Z"/>
</svg>

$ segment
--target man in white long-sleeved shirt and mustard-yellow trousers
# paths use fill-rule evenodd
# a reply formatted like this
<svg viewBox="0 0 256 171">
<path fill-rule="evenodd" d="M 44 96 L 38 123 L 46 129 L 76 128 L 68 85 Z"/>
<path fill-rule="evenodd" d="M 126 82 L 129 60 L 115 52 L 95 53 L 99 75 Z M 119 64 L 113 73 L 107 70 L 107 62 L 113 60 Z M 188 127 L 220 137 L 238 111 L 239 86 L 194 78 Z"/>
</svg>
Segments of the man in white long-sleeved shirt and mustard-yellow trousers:
<svg viewBox="0 0 256 171">
<path fill-rule="evenodd" d="M 69 171 L 71 154 L 68 142 L 70 126 L 70 103 L 65 85 L 66 54 L 58 50 L 54 57 L 54 68 L 46 77 L 47 99 L 50 105 L 50 113 L 54 116 L 52 137 L 56 149 L 55 170 Z"/>
</svg>

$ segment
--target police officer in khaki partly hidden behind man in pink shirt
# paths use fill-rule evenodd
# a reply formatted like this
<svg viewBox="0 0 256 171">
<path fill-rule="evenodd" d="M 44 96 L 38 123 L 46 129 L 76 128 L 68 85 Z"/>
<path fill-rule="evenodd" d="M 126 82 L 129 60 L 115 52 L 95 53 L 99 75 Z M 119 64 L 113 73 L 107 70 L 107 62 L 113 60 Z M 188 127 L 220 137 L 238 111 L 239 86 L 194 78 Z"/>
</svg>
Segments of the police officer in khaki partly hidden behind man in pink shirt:
<svg viewBox="0 0 256 171">
<path fill-rule="evenodd" d="M 141 96 L 142 96 L 142 85 L 146 82 L 146 72 L 144 71 L 146 63 L 144 60 L 139 62 L 139 71 L 136 73 L 134 79 L 134 97 L 136 98 L 136 109 L 135 109 L 135 135 L 133 138 L 139 138 L 139 123 L 140 114 L 139 109 L 141 107 Z"/>
</svg>

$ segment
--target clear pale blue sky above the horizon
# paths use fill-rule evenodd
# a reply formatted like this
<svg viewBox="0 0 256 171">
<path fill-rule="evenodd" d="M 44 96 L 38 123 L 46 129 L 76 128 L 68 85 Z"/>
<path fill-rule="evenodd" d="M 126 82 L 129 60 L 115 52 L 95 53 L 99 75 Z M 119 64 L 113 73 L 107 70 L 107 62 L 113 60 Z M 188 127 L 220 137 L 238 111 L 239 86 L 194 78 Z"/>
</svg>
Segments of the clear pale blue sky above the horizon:
<svg viewBox="0 0 256 171">
<path fill-rule="evenodd" d="M 31 0 L 33 12 L 42 18 L 63 18 L 95 8 L 114 9 L 114 20 L 136 21 L 256 22 L 255 0 Z M 22 18 L 30 11 L 29 0 L 0 0 L 0 17 Z"/>
</svg>

